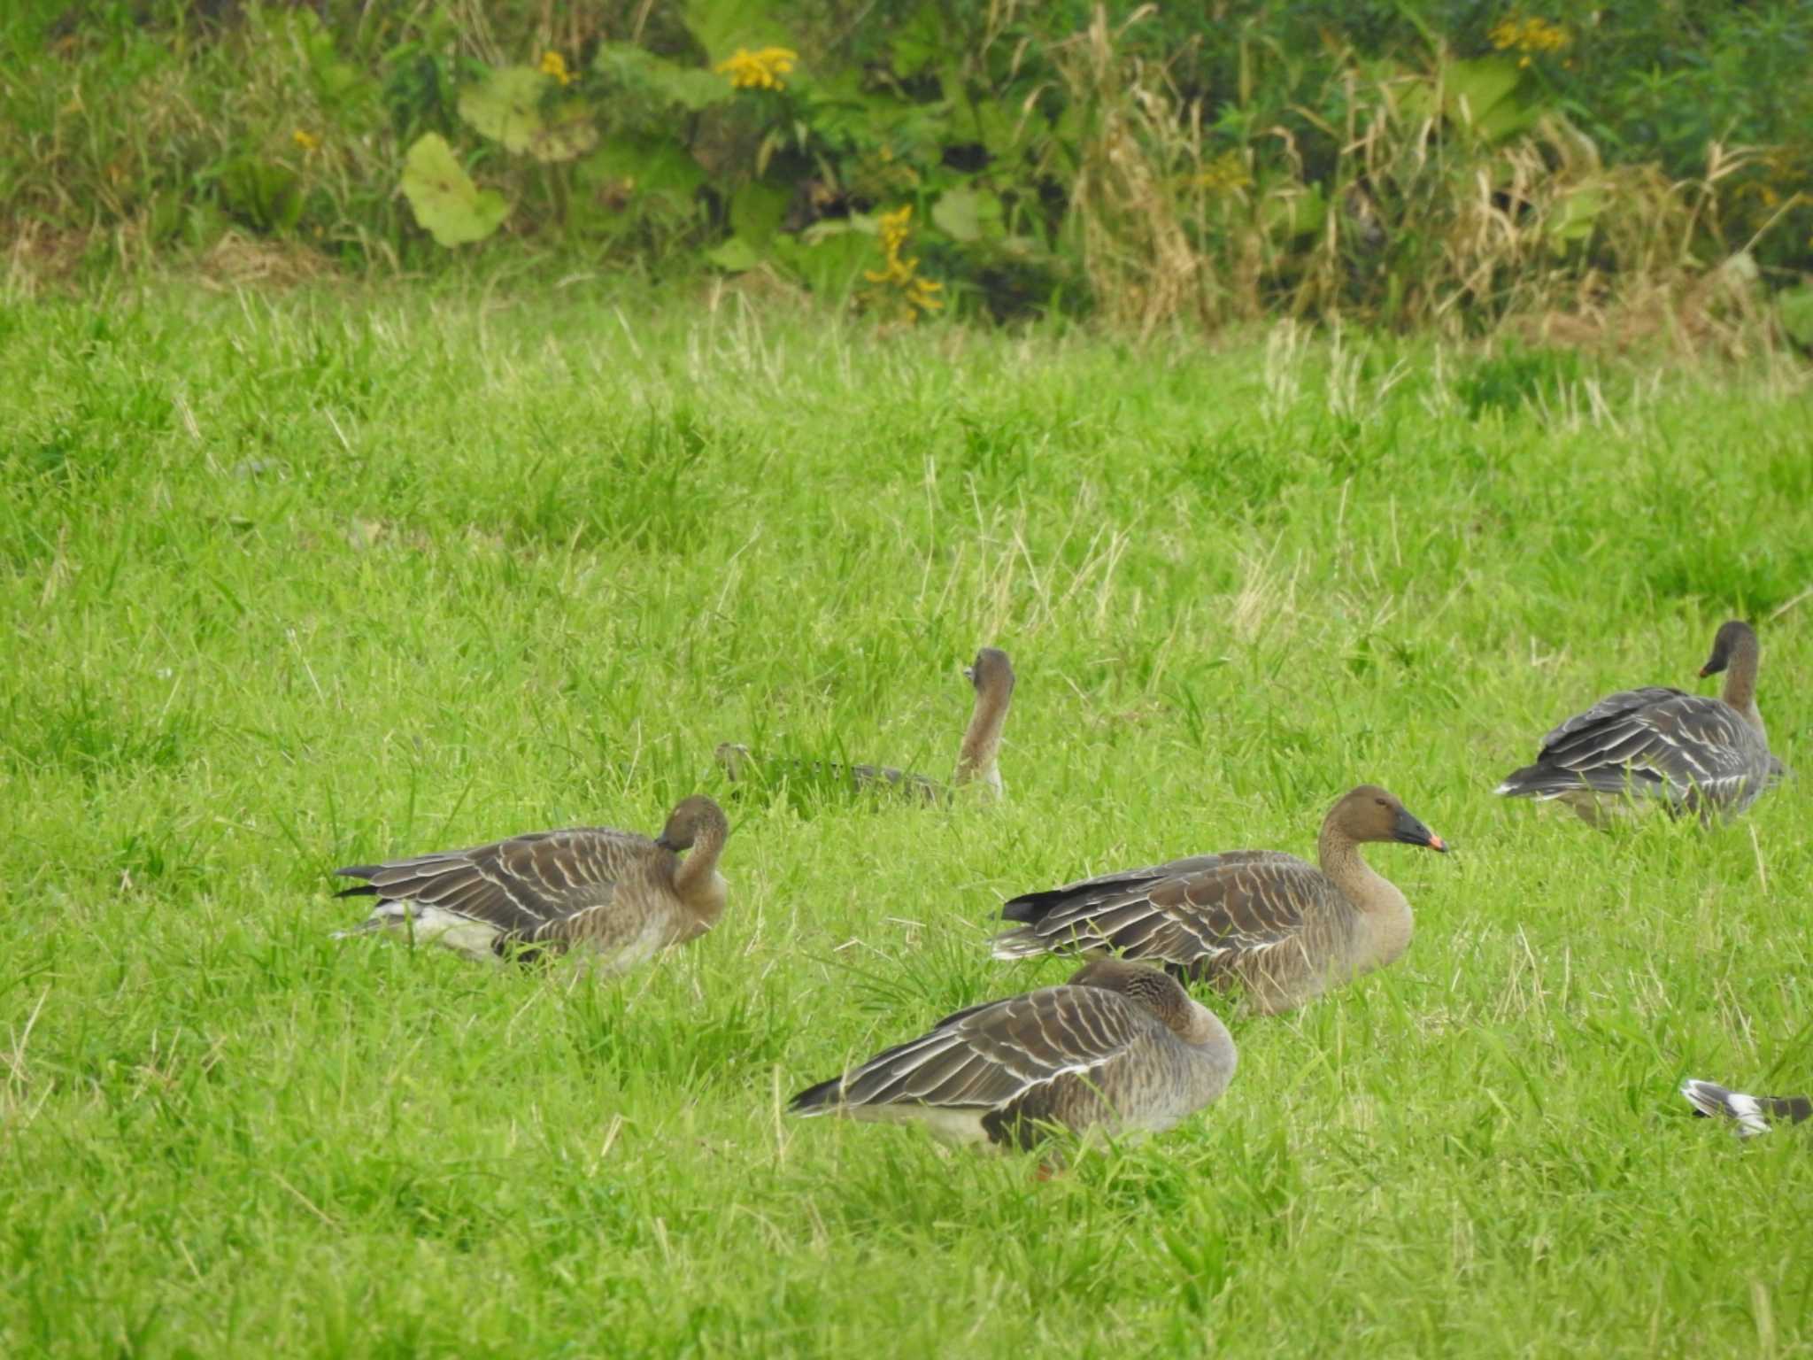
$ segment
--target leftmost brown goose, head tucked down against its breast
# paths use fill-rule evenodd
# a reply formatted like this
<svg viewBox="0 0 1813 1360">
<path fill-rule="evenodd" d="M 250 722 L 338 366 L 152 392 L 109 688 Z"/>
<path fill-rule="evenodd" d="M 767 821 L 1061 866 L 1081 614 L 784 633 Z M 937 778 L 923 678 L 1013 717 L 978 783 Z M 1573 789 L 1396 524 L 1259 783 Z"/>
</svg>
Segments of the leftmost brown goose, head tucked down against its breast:
<svg viewBox="0 0 1813 1360">
<path fill-rule="evenodd" d="M 392 930 L 475 959 L 542 950 L 596 954 L 624 972 L 711 930 L 723 914 L 718 854 L 731 825 L 696 794 L 654 840 L 609 827 L 538 831 L 383 865 L 339 898 L 377 898 L 370 919 L 339 936 Z M 689 850 L 685 860 L 680 850 Z"/>
</svg>

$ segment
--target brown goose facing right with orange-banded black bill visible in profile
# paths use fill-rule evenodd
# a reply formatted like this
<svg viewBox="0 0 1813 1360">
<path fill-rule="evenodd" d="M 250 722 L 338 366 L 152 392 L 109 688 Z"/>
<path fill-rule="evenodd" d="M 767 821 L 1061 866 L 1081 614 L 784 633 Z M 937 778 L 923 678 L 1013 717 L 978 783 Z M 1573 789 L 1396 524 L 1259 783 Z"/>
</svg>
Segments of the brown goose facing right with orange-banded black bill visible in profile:
<svg viewBox="0 0 1813 1360">
<path fill-rule="evenodd" d="M 1411 905 L 1360 856 L 1363 841 L 1449 849 L 1363 783 L 1322 820 L 1320 869 L 1282 850 L 1227 850 L 1028 892 L 1001 908 L 1024 925 L 995 936 L 994 954 L 1113 950 L 1222 990 L 1238 985 L 1264 1015 L 1294 1010 L 1411 943 Z"/>
</svg>

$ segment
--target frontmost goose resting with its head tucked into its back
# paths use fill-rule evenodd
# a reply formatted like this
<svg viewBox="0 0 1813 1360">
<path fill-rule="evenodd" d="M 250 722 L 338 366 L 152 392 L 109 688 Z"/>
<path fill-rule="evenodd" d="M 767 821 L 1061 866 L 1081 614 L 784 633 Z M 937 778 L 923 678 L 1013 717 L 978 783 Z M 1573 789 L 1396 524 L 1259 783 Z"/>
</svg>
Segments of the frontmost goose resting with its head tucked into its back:
<svg viewBox="0 0 1813 1360">
<path fill-rule="evenodd" d="M 1021 1148 L 1052 1124 L 1162 1133 L 1227 1090 L 1235 1061 L 1227 1026 L 1177 979 L 1095 959 L 1062 986 L 946 1015 L 809 1086 L 789 1110 L 921 1122 L 948 1142 Z"/>
</svg>

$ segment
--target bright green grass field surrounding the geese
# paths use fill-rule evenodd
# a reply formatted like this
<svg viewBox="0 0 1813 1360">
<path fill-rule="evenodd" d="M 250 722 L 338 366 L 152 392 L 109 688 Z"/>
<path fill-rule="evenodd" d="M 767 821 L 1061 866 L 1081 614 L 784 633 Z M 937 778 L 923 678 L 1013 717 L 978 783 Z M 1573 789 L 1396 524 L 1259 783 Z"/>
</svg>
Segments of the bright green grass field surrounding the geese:
<svg viewBox="0 0 1813 1360">
<path fill-rule="evenodd" d="M 1490 796 L 1764 647 L 1808 771 L 1784 370 L 1206 348 L 660 297 L 0 310 L 0 1353 L 1813 1355 L 1806 780 L 1710 834 Z M 734 803 L 720 740 L 1008 801 Z M 1003 896 L 1313 852 L 1376 780 L 1418 934 L 1171 1135 L 780 1115 L 966 1003 Z M 722 927 L 618 985 L 334 941 L 343 863 L 725 800 Z"/>
</svg>

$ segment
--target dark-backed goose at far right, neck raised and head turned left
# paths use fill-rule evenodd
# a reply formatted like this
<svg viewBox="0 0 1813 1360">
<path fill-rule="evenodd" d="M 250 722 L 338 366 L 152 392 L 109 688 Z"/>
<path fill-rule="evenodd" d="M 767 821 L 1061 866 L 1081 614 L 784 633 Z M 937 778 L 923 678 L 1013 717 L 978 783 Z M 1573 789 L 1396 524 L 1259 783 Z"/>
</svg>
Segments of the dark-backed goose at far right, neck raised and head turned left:
<svg viewBox="0 0 1813 1360">
<path fill-rule="evenodd" d="M 1757 711 L 1757 635 L 1733 618 L 1711 642 L 1701 676 L 1724 673 L 1719 698 L 1664 685 L 1621 689 L 1543 738 L 1534 765 L 1505 776 L 1505 798 L 1559 798 L 1601 827 L 1634 805 L 1670 816 L 1742 812 L 1786 774 Z M 1626 801 L 1626 798 L 1630 801 Z"/>
</svg>

